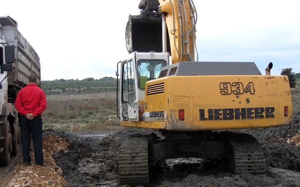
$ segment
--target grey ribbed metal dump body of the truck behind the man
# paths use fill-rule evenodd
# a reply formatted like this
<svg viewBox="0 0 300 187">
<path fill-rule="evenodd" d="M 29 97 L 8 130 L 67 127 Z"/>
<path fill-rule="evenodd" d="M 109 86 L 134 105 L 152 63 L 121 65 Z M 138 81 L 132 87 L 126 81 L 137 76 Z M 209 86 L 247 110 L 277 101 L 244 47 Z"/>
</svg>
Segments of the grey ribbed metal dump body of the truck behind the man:
<svg viewBox="0 0 300 187">
<path fill-rule="evenodd" d="M 27 39 L 18 30 L 18 23 L 10 16 L 0 16 L 1 33 L 9 45 L 15 46 L 14 70 L 8 76 L 9 98 L 14 102 L 16 87 L 21 89 L 28 83 L 28 76 L 35 74 L 41 84 L 40 57 Z"/>
</svg>

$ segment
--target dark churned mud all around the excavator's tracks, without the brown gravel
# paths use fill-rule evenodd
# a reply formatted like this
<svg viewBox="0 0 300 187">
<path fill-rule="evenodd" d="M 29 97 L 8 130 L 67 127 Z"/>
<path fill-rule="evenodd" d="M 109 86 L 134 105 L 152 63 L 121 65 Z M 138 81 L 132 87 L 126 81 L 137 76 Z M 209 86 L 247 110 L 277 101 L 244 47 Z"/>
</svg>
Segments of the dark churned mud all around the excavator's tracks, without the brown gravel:
<svg viewBox="0 0 300 187">
<path fill-rule="evenodd" d="M 222 160 L 181 158 L 159 163 L 152 171 L 150 186 L 300 186 L 300 148 L 290 139 L 299 135 L 300 112 L 294 113 L 292 125 L 241 130 L 255 136 L 263 146 L 267 172 L 234 174 Z M 59 133 L 70 142 L 67 150 L 54 154 L 57 165 L 71 186 L 120 186 L 118 148 L 133 134 L 157 130 L 122 128 L 107 136 Z M 125 186 L 125 185 L 123 185 Z"/>
</svg>

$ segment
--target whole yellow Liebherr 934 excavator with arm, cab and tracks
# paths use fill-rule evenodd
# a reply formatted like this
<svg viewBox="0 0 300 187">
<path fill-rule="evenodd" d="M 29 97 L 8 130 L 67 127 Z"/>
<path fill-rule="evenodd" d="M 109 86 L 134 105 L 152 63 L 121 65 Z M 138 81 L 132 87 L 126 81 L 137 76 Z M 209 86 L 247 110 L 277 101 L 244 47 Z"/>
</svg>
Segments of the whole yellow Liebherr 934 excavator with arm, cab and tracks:
<svg viewBox="0 0 300 187">
<path fill-rule="evenodd" d="M 126 26 L 131 53 L 117 65 L 118 116 L 121 126 L 159 129 L 165 138 L 128 137 L 119 148 L 120 183 L 147 185 L 149 162 L 179 157 L 265 172 L 260 143 L 232 129 L 291 124 L 288 77 L 270 75 L 272 63 L 262 75 L 254 62 L 196 61 L 193 0 L 141 0 L 139 8 Z"/>
</svg>

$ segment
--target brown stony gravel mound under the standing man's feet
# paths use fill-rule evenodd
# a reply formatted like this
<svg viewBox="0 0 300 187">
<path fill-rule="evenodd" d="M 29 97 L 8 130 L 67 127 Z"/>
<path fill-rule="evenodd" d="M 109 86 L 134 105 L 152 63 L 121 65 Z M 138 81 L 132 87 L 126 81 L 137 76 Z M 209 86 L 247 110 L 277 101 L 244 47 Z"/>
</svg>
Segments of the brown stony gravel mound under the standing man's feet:
<svg viewBox="0 0 300 187">
<path fill-rule="evenodd" d="M 33 144 L 31 144 L 31 147 Z M 7 167 L 0 167 L 0 186 L 70 186 L 62 176 L 62 169 L 56 165 L 53 153 L 66 149 L 68 142 L 55 133 L 43 133 L 43 153 L 46 167 L 34 164 L 34 153 L 31 150 L 32 165 L 23 163 L 22 151 L 11 160 Z M 21 149 L 20 149 L 21 150 Z"/>
</svg>

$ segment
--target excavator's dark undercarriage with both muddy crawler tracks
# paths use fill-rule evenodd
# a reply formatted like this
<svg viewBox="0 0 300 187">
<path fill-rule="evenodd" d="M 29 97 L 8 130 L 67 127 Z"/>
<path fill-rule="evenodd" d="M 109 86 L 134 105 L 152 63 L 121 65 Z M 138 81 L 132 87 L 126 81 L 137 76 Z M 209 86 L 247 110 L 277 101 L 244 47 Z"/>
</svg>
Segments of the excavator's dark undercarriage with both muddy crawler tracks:
<svg viewBox="0 0 300 187">
<path fill-rule="evenodd" d="M 121 144 L 120 184 L 148 185 L 149 160 L 189 156 L 226 158 L 229 168 L 235 173 L 264 173 L 266 170 L 261 144 L 250 134 L 225 131 L 219 135 L 208 132 L 165 135 L 169 140 L 148 144 L 147 136 L 139 136 L 130 137 Z M 152 153 L 150 157 L 148 151 Z"/>
</svg>

